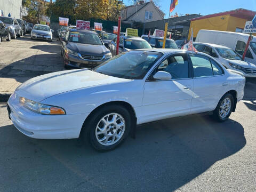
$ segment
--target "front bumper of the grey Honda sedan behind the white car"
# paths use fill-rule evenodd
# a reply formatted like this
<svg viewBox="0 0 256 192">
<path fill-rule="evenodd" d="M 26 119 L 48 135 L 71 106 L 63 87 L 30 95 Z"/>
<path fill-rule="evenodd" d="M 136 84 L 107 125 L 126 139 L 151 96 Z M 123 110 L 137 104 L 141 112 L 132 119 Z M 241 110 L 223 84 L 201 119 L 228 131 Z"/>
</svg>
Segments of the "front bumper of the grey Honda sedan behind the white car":
<svg viewBox="0 0 256 192">
<path fill-rule="evenodd" d="M 105 56 L 103 56 L 101 60 L 87 60 L 83 59 L 81 54 L 79 54 L 78 57 L 71 54 L 68 54 L 67 57 L 67 55 L 65 54 L 65 65 L 76 68 L 93 68 L 107 61 L 108 59 L 110 58 L 106 59 Z"/>
</svg>

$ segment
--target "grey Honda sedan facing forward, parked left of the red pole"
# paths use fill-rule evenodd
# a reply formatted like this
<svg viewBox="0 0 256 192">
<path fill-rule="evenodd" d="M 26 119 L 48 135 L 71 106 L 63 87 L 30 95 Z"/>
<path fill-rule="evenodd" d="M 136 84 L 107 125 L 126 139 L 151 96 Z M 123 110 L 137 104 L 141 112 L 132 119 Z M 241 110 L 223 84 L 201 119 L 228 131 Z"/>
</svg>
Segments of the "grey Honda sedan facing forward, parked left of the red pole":
<svg viewBox="0 0 256 192">
<path fill-rule="evenodd" d="M 61 54 L 65 68 L 92 68 L 112 57 L 97 33 L 76 29 L 61 38 Z"/>
</svg>

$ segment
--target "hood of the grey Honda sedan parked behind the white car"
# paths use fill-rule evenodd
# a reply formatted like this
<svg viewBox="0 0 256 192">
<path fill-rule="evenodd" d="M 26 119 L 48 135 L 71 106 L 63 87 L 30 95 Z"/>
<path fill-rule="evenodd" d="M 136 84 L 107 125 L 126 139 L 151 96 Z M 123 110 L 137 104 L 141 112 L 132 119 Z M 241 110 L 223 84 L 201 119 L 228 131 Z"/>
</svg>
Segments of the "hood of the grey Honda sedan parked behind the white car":
<svg viewBox="0 0 256 192">
<path fill-rule="evenodd" d="M 90 45 L 83 43 L 71 43 L 67 44 L 68 49 L 77 53 L 86 55 L 102 56 L 103 52 L 109 51 L 104 45 Z"/>
</svg>

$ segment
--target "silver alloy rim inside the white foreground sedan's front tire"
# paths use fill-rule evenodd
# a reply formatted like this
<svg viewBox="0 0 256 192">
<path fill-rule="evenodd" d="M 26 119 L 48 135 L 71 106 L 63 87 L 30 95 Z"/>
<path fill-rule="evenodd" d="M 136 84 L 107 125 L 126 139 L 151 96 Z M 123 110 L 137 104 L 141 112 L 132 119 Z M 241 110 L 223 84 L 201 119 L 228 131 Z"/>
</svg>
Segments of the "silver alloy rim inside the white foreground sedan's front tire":
<svg viewBox="0 0 256 192">
<path fill-rule="evenodd" d="M 95 129 L 97 141 L 104 146 L 114 145 L 125 131 L 125 120 L 118 113 L 110 113 L 100 119 Z"/>
</svg>

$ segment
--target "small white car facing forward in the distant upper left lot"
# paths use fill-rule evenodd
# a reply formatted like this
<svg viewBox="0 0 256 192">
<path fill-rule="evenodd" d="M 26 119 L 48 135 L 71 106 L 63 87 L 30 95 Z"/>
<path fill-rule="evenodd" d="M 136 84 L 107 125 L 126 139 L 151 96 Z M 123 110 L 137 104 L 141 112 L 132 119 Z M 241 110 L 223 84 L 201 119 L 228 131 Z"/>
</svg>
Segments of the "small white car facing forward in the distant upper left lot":
<svg viewBox="0 0 256 192">
<path fill-rule="evenodd" d="M 31 35 L 31 39 L 45 39 L 52 41 L 52 30 L 47 25 L 36 24 L 34 25 Z"/>
</svg>

